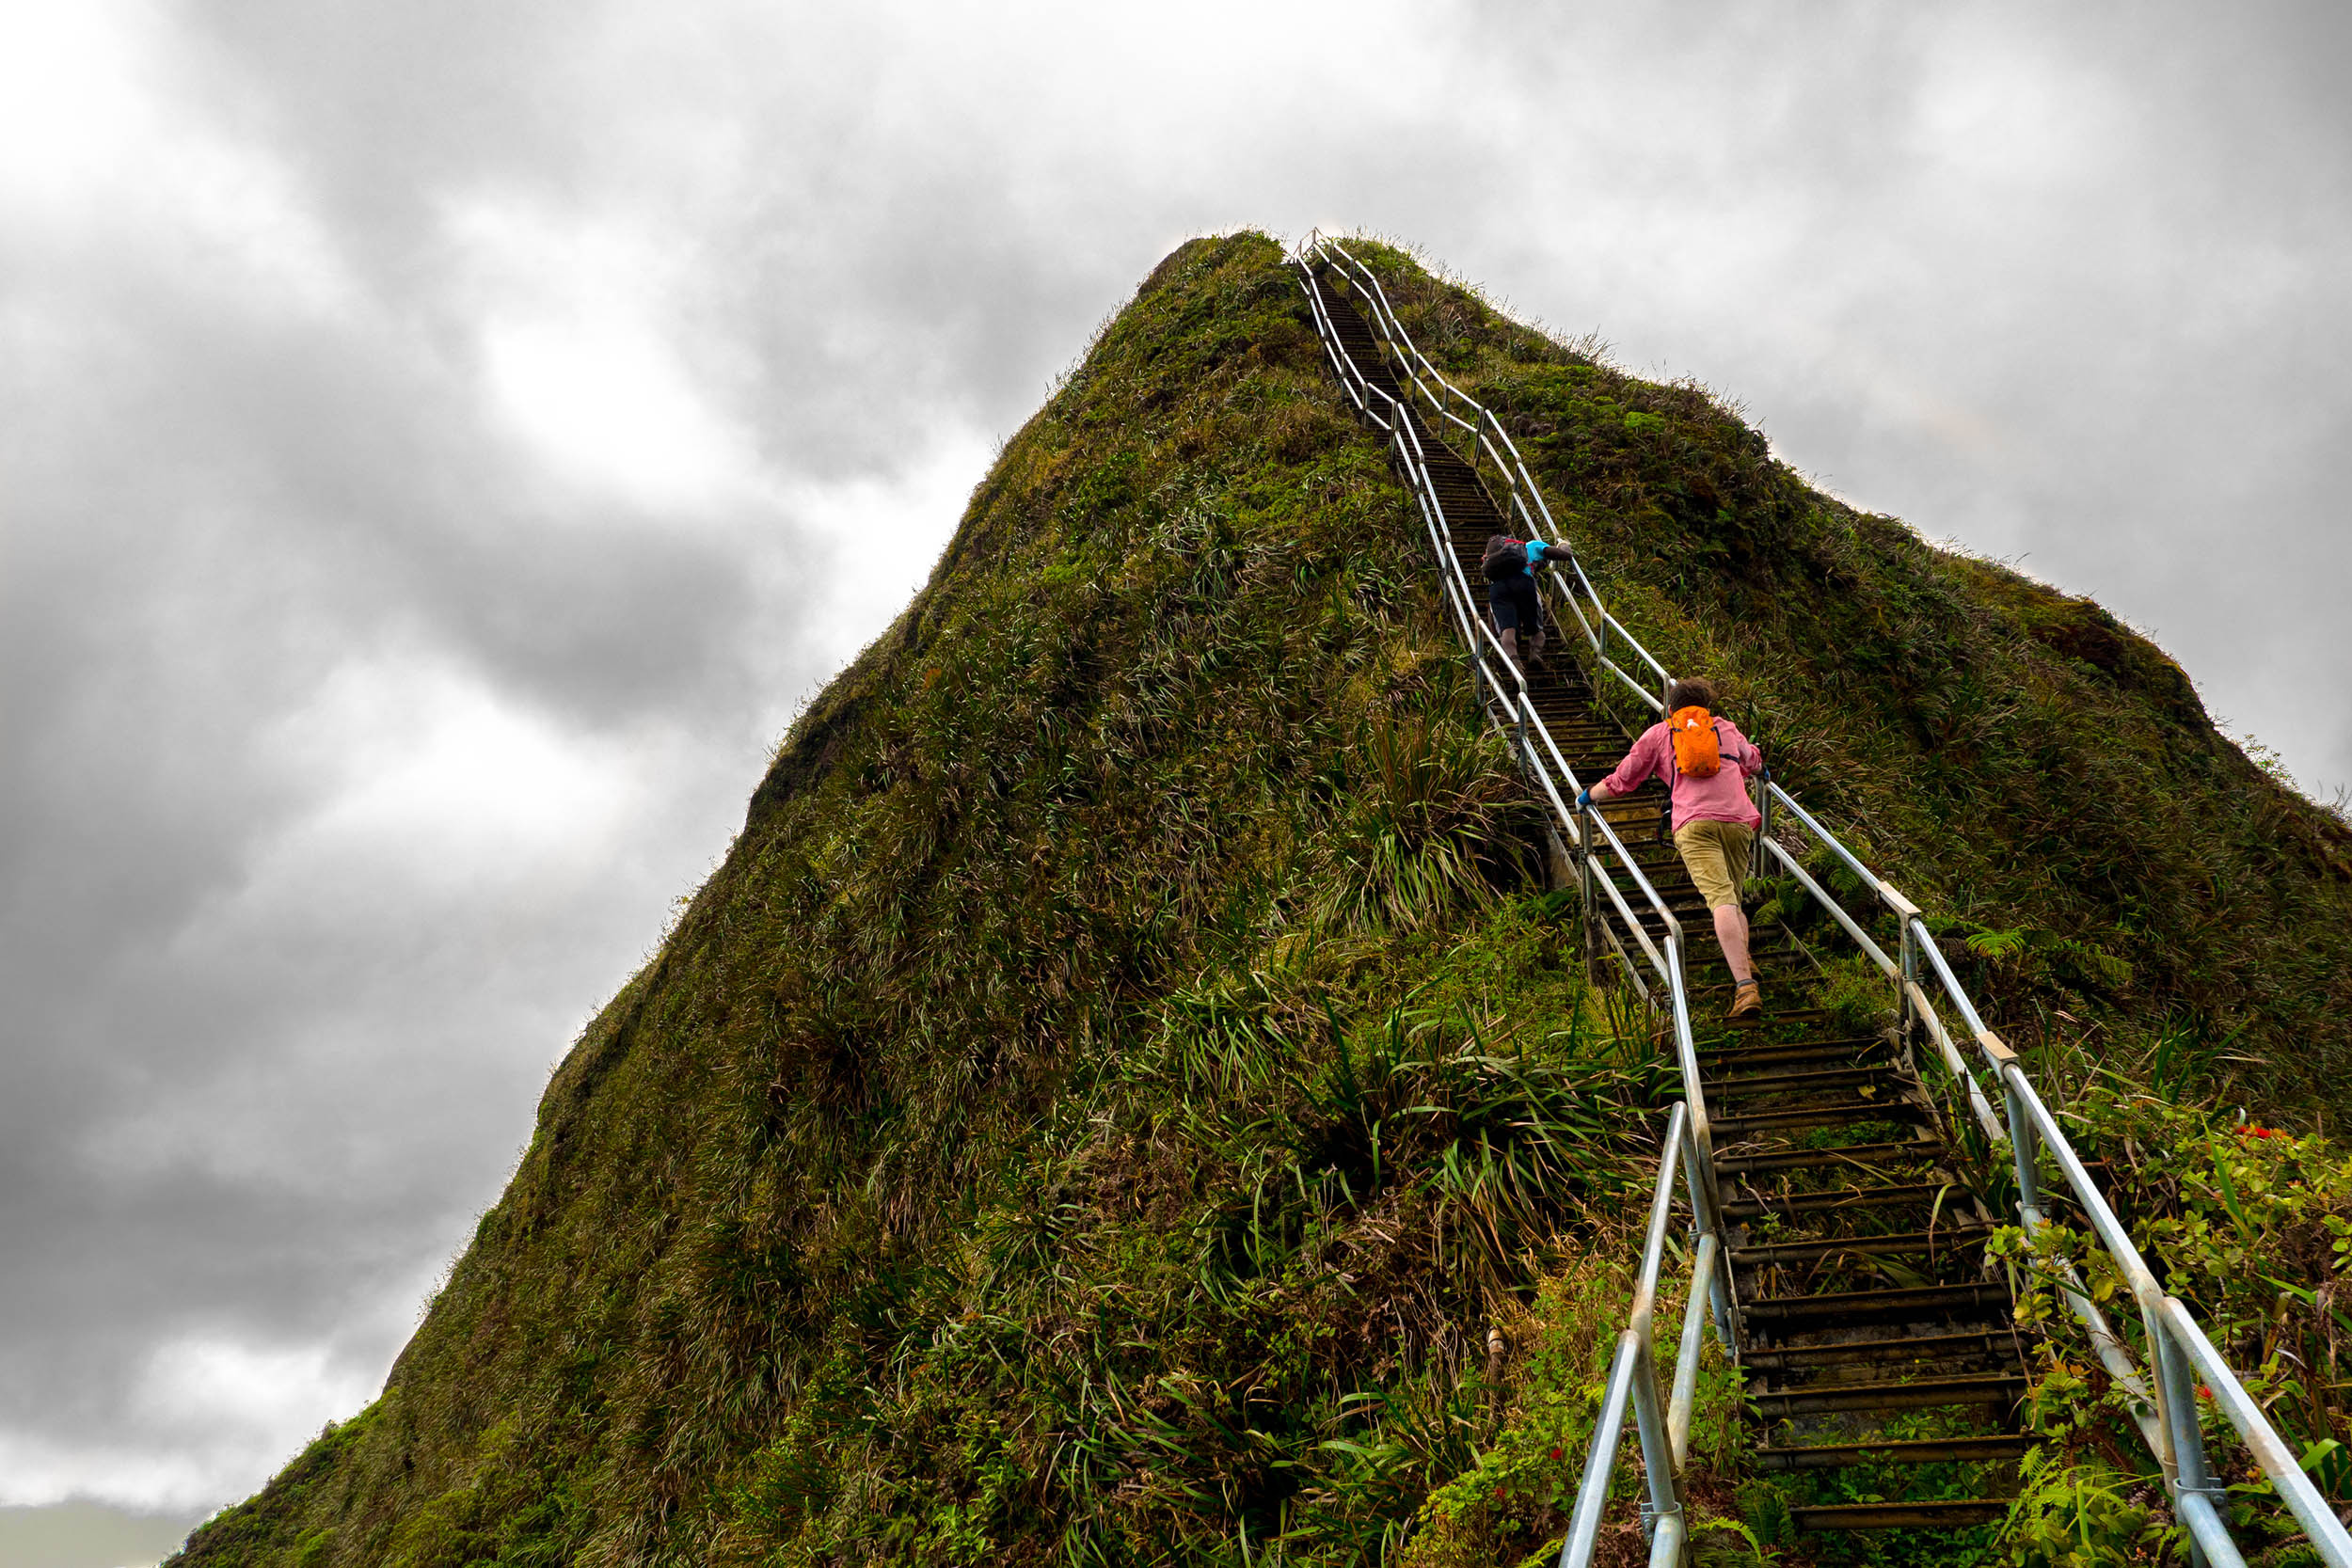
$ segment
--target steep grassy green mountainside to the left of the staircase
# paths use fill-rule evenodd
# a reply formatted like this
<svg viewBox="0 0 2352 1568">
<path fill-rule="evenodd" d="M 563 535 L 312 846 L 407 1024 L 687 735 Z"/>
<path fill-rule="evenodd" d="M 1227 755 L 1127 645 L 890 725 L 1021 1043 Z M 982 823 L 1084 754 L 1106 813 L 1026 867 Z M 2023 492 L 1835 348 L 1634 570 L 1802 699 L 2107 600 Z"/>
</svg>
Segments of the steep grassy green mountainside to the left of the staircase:
<svg viewBox="0 0 2352 1568">
<path fill-rule="evenodd" d="M 183 1561 L 1392 1535 L 1486 1298 L 1639 1180 L 1439 637 L 1279 249 L 1176 252 L 788 736 L 360 1436 Z"/>
</svg>

